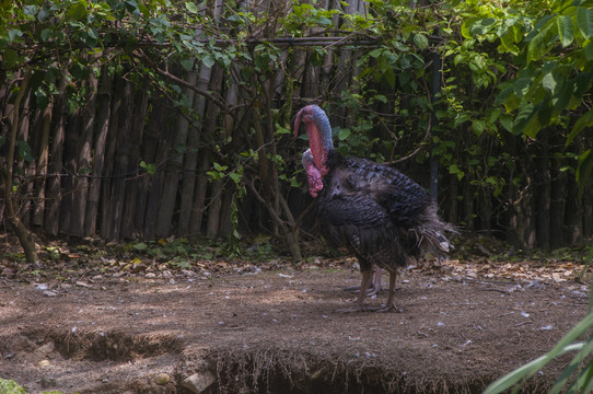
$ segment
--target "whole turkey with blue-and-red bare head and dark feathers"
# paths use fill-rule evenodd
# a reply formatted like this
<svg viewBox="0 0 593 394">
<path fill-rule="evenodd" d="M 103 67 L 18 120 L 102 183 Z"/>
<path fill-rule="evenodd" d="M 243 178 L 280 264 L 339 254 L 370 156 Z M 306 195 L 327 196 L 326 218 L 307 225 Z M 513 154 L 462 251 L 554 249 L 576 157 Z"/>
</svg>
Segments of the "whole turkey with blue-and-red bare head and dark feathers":
<svg viewBox="0 0 593 394">
<path fill-rule="evenodd" d="M 332 244 L 346 247 L 358 258 L 362 274 L 356 305 L 338 312 L 367 310 L 368 292 L 363 289 L 369 288 L 374 265 L 389 273 L 387 302 L 379 311 L 397 311 L 398 267 L 427 248 L 449 252 L 444 234 L 455 230 L 438 217 L 428 193 L 406 175 L 370 160 L 344 158 L 334 150 L 329 119 L 321 107 L 307 105 L 299 111 L 294 136 L 301 121 L 310 144 L 302 164 L 309 193 L 317 198 L 321 230 Z"/>
</svg>

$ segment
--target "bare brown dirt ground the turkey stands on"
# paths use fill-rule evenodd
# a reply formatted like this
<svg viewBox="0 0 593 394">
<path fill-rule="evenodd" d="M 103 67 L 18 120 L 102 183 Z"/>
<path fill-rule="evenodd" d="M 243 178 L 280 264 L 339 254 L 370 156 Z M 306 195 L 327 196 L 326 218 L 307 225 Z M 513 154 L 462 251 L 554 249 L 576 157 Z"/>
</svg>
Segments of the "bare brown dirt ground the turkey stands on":
<svg viewBox="0 0 593 394">
<path fill-rule="evenodd" d="M 105 265 L 0 266 L 0 378 L 27 393 L 194 393 L 200 381 L 214 381 L 206 393 L 479 393 L 549 350 L 589 296 L 572 263 L 455 259 L 404 269 L 400 313 L 339 314 L 360 280 L 351 259 Z"/>
</svg>

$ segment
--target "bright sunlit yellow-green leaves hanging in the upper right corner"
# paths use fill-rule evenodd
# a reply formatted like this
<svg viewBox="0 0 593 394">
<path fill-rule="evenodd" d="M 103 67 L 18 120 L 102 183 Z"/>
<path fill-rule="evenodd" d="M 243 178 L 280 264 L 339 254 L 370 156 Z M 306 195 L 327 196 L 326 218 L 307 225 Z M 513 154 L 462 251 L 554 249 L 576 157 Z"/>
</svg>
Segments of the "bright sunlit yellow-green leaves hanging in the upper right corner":
<svg viewBox="0 0 593 394">
<path fill-rule="evenodd" d="M 566 137 L 568 148 L 579 134 L 593 126 L 591 113 L 580 109 L 583 104 L 589 105 L 593 81 L 593 10 L 586 1 L 505 3 L 508 7 L 488 8 L 480 2 L 467 2 L 465 14 L 474 15 L 463 23 L 465 39 L 461 47 L 498 43 L 498 51 L 511 56 L 512 63 L 499 60 L 497 69 L 518 69 L 498 86 L 496 104 L 514 116 L 512 124 L 507 121 L 504 127 L 515 135 L 536 138 L 544 128 L 563 127 L 570 115 L 573 120 Z M 455 60 L 467 59 L 475 53 L 460 50 L 455 44 L 450 46 L 447 55 L 457 53 Z M 487 81 L 479 68 L 470 68 L 475 83 Z M 591 178 L 588 154 L 583 152 L 578 161 L 581 185 Z"/>
</svg>

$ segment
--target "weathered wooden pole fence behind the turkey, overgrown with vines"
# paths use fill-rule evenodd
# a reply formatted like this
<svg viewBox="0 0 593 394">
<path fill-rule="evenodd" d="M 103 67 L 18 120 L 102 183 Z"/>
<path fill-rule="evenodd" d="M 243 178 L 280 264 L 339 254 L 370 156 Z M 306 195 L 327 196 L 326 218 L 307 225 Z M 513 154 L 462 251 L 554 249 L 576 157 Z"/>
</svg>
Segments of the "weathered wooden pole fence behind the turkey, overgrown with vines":
<svg viewBox="0 0 593 394">
<path fill-rule="evenodd" d="M 327 3 L 341 7 L 337 1 Z M 352 1 L 345 11 L 363 13 L 364 2 Z M 22 221 L 47 235 L 113 241 L 226 237 L 239 227 L 247 235 L 278 235 L 300 257 L 299 229 L 310 223 L 306 208 L 312 200 L 304 188 L 288 187 L 280 175 L 299 169 L 304 142 L 279 135 L 278 126 L 290 129 L 292 116 L 302 105 L 338 103 L 344 91 L 356 86 L 360 48 L 332 44 L 332 39 L 279 40 L 281 68 L 241 83 L 236 67 L 197 63 L 189 72 L 166 71 L 161 77 L 170 82 L 178 79 L 190 112 L 174 105 L 171 92 L 160 89 L 156 79 L 139 80 L 131 66 L 115 73 L 105 67 L 91 74 L 78 86 L 86 94 L 83 105 L 73 112 L 66 99 L 66 78 L 56 81 L 62 94 L 51 96 L 43 108 L 32 93 L 26 95 L 16 118 L 4 84 L 0 91 L 4 129 L 18 123 L 18 140 L 28 143 L 33 158 L 21 173 L 15 172 Z M 327 51 L 314 65 L 312 48 L 319 45 Z M 381 112 L 396 113 L 396 103 L 404 100 L 397 89 L 377 89 L 389 97 Z M 354 117 L 346 106 L 334 108 L 333 121 L 352 126 Z M 398 121 L 397 116 L 387 119 L 393 129 Z M 372 132 L 385 137 L 381 129 Z M 398 149 L 412 151 L 423 136 L 423 130 L 409 134 Z M 549 175 L 545 163 L 548 170 L 537 169 L 537 162 L 527 159 L 523 164 L 521 171 Z M 402 165 L 428 186 L 426 164 L 409 161 Z M 548 235 L 548 246 L 578 244 L 593 234 L 591 190 L 577 195 L 569 177 L 548 176 L 530 189 L 513 189 L 509 184 L 507 198 L 477 188 L 469 176 L 458 181 L 441 171 L 440 181 L 443 215 L 469 230 L 509 230 L 509 241 L 514 239 L 518 246 L 537 245 L 536 220 L 572 233 L 561 235 L 566 242 L 560 243 L 557 235 L 553 242 Z M 561 222 L 550 223 L 545 210 L 561 210 L 561 218 L 551 216 L 553 221 Z M 5 220 L 0 225 L 8 230 Z"/>
</svg>

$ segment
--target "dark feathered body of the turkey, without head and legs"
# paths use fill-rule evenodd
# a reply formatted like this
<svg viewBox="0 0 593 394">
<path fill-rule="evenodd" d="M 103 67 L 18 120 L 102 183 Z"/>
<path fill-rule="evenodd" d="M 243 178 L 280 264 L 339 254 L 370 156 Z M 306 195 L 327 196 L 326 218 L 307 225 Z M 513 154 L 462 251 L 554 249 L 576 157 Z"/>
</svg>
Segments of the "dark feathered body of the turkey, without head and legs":
<svg viewBox="0 0 593 394">
<path fill-rule="evenodd" d="M 447 225 L 435 215 L 428 193 L 395 169 L 364 159 L 328 152 L 328 174 L 317 199 L 323 233 L 345 246 L 370 269 L 388 271 L 418 256 L 423 246 L 447 248 Z M 446 251 L 443 251 L 446 252 Z"/>
</svg>

